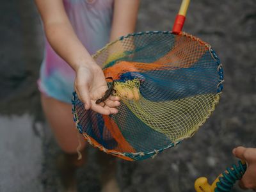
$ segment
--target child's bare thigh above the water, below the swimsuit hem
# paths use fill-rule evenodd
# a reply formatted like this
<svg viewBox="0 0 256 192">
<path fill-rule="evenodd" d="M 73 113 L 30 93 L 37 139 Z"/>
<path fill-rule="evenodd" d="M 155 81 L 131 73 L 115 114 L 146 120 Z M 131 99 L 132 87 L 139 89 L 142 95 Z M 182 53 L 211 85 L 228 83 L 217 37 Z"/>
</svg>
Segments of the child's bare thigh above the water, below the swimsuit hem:
<svg viewBox="0 0 256 192">
<path fill-rule="evenodd" d="M 47 121 L 51 125 L 54 136 L 61 149 L 68 154 L 75 154 L 79 141 L 77 137 L 76 124 L 71 113 L 72 106 L 65 102 L 47 97 L 41 94 L 42 107 Z M 81 150 L 85 147 L 85 141 L 81 134 L 78 134 L 81 141 Z"/>
</svg>

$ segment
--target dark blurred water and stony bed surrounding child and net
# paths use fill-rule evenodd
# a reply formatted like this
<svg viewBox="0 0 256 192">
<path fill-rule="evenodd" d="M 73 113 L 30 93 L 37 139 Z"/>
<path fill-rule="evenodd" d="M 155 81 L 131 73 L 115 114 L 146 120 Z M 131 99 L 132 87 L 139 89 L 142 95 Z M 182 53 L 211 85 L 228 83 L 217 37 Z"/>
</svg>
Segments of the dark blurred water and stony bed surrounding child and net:
<svg viewBox="0 0 256 192">
<path fill-rule="evenodd" d="M 137 31 L 171 30 L 179 6 L 179 0 L 141 0 Z M 211 44 L 223 63 L 220 104 L 193 138 L 155 159 L 118 159 L 122 191 L 195 191 L 197 177 L 212 182 L 237 162 L 234 147 L 256 147 L 256 1 L 192 0 L 184 31 Z M 53 163 L 60 148 L 36 87 L 43 47 L 33 1 L 0 1 L 0 191 L 61 190 Z M 77 188 L 100 191 L 96 149 L 88 153 Z"/>
</svg>

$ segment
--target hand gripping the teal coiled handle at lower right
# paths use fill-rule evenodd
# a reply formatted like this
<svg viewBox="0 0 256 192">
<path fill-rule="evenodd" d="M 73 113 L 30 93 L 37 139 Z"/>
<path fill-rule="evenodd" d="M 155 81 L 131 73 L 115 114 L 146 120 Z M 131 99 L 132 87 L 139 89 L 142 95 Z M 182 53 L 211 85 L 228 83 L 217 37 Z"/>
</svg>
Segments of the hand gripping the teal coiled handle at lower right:
<svg viewBox="0 0 256 192">
<path fill-rule="evenodd" d="M 256 190 L 256 148 L 237 147 L 233 149 L 233 154 L 247 163 L 247 170 L 239 186 L 242 189 Z"/>
</svg>

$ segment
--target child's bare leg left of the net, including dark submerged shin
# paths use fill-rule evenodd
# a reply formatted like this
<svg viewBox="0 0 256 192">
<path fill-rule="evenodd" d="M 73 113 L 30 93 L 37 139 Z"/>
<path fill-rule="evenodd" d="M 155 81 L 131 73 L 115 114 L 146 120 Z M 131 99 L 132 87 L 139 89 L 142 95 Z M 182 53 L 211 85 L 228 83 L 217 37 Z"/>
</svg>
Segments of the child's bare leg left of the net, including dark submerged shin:
<svg viewBox="0 0 256 192">
<path fill-rule="evenodd" d="M 76 170 L 86 162 L 85 141 L 77 132 L 71 113 L 71 104 L 41 94 L 45 116 L 63 153 L 56 158 L 59 177 L 67 192 L 76 190 Z M 78 133 L 78 134 L 77 134 Z M 77 147 L 81 143 L 82 159 L 78 160 Z"/>
</svg>

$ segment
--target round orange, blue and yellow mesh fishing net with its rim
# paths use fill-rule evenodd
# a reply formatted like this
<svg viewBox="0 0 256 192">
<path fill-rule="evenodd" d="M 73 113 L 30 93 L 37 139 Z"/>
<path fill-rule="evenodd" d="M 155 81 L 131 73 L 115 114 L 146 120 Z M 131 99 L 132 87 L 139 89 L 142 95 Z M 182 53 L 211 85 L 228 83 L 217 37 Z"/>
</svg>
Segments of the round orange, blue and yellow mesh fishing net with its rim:
<svg viewBox="0 0 256 192">
<path fill-rule="evenodd" d="M 216 53 L 184 32 L 122 36 L 93 58 L 113 78 L 108 84 L 114 83 L 121 105 L 115 115 L 100 115 L 84 109 L 74 92 L 77 129 L 95 147 L 129 161 L 154 157 L 191 137 L 223 89 Z"/>
</svg>

